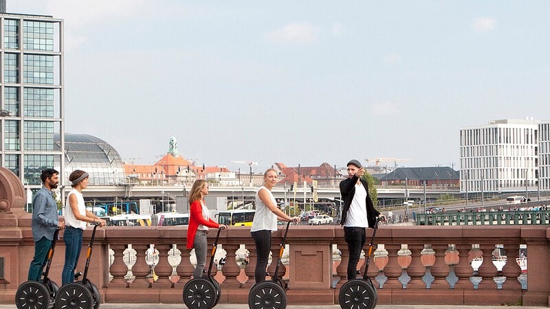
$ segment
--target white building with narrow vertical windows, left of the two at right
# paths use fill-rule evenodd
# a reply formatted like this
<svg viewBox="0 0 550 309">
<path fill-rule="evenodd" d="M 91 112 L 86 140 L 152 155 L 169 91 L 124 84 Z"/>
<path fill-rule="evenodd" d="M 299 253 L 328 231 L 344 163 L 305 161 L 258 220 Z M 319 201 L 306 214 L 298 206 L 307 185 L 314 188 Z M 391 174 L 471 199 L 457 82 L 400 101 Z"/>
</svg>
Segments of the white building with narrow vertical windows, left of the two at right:
<svg viewBox="0 0 550 309">
<path fill-rule="evenodd" d="M 501 119 L 461 128 L 461 192 L 536 192 L 539 123 Z"/>
</svg>

